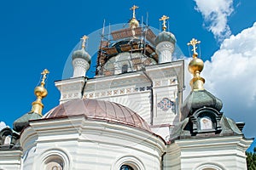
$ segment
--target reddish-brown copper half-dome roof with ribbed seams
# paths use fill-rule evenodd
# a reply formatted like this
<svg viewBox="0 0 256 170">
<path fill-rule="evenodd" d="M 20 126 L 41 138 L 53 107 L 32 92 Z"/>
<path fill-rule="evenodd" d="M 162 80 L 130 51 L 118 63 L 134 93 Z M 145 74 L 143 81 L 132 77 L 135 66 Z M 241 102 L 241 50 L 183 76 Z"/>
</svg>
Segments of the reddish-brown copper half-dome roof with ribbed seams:
<svg viewBox="0 0 256 170">
<path fill-rule="evenodd" d="M 96 99 L 74 99 L 67 101 L 45 114 L 43 118 L 84 115 L 86 119 L 117 122 L 139 127 L 151 132 L 147 122 L 124 105 Z"/>
</svg>

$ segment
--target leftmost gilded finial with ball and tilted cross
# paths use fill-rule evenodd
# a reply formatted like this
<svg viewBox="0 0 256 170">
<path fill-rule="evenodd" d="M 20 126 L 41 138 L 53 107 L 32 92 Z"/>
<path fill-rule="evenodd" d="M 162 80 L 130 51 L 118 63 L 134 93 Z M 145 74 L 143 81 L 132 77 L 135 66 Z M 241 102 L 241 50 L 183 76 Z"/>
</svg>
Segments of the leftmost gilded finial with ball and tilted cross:
<svg viewBox="0 0 256 170">
<path fill-rule="evenodd" d="M 43 78 L 40 83 L 40 86 L 34 89 L 34 94 L 37 96 L 37 99 L 34 102 L 32 102 L 32 112 L 37 113 L 40 116 L 42 116 L 42 110 L 44 108 L 42 99 L 48 94 L 47 90 L 44 88 L 47 74 L 49 74 L 49 71 L 47 69 L 44 69 L 44 71 L 42 71 L 41 73 L 41 75 L 43 75 Z"/>
</svg>

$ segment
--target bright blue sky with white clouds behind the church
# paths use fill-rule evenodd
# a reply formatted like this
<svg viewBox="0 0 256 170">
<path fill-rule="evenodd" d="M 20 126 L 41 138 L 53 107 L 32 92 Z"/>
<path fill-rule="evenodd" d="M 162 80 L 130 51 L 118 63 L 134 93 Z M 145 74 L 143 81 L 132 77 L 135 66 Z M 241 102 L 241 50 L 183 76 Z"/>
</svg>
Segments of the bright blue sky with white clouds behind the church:
<svg viewBox="0 0 256 170">
<path fill-rule="evenodd" d="M 206 88 L 223 99 L 226 116 L 236 122 L 247 123 L 246 137 L 255 137 L 253 123 L 256 120 L 254 116 L 256 92 L 253 87 L 256 86 L 256 80 L 253 80 L 255 77 L 252 76 L 256 71 L 256 62 L 253 63 L 255 61 L 253 54 L 247 52 L 254 52 L 253 47 L 256 47 L 256 39 L 253 38 L 256 37 L 253 35 L 256 1 L 216 0 L 213 4 L 209 3 L 212 0 L 205 2 L 204 0 L 1 2 L 0 121 L 11 126 L 15 119 L 31 110 L 31 103 L 35 99 L 33 88 L 38 85 L 40 72 L 44 68 L 50 71 L 47 82 L 49 95 L 44 99 L 44 113 L 58 105 L 59 92 L 55 88 L 54 81 L 61 80 L 67 58 L 79 42 L 79 38 L 101 29 L 104 19 L 107 26 L 109 23 L 113 25 L 127 22 L 131 18 L 129 8 L 136 4 L 139 6 L 137 19 L 141 20 L 143 16 L 145 20 L 148 13 L 148 24 L 154 28 L 160 27 L 159 19 L 163 14 L 170 17 L 169 30 L 176 36 L 177 45 L 185 56 L 189 57 L 187 42 L 192 37 L 201 40 L 201 58 L 207 61 Z M 216 26 L 216 23 L 221 23 L 221 26 L 220 24 Z M 247 37 L 250 41 L 245 41 Z M 92 45 L 90 39 L 88 45 Z M 241 51 L 245 49 L 247 51 L 241 53 L 239 56 L 241 58 L 236 60 L 236 53 L 240 53 L 240 48 Z M 225 54 L 224 57 L 219 57 L 222 54 Z M 229 56 L 233 58 L 230 59 Z M 237 69 L 234 70 L 236 67 Z M 223 70 L 224 68 L 230 70 Z M 231 74 L 230 71 L 237 74 Z M 247 90 L 240 91 L 241 88 Z"/>
</svg>

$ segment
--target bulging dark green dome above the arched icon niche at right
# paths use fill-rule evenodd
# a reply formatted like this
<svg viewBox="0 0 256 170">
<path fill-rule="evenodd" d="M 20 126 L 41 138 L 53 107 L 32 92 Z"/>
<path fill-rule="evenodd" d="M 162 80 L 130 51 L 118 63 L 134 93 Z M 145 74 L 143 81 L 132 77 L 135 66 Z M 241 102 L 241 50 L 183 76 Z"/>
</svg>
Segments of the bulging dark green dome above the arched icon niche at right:
<svg viewBox="0 0 256 170">
<path fill-rule="evenodd" d="M 182 121 L 191 116 L 195 111 L 201 109 L 203 107 L 210 107 L 215 109 L 216 111 L 220 111 L 222 109 L 222 101 L 212 95 L 207 90 L 196 90 L 190 92 L 189 96 L 183 102 L 181 107 L 182 112 Z"/>
</svg>

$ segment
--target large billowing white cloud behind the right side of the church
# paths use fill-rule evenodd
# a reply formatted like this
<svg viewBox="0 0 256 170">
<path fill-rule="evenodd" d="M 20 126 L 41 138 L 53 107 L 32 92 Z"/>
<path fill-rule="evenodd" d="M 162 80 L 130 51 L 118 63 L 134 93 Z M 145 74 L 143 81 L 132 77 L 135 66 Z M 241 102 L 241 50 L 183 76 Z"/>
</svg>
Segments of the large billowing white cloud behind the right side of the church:
<svg viewBox="0 0 256 170">
<path fill-rule="evenodd" d="M 206 79 L 205 88 L 223 101 L 224 115 L 246 122 L 246 137 L 255 137 L 256 22 L 225 39 L 211 61 L 205 62 L 201 76 Z"/>
</svg>

